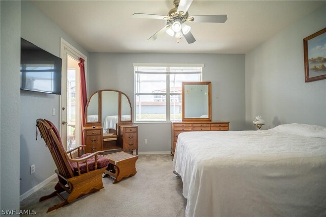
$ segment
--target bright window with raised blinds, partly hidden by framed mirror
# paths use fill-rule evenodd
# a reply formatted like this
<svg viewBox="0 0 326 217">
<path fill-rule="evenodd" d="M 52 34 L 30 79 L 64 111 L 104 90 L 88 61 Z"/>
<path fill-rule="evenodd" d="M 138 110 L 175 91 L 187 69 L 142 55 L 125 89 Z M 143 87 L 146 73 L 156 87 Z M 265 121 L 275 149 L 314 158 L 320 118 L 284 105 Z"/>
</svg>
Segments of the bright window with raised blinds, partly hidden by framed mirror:
<svg viewBox="0 0 326 217">
<path fill-rule="evenodd" d="M 200 82 L 202 67 L 134 64 L 135 122 L 181 121 L 182 82 Z"/>
</svg>

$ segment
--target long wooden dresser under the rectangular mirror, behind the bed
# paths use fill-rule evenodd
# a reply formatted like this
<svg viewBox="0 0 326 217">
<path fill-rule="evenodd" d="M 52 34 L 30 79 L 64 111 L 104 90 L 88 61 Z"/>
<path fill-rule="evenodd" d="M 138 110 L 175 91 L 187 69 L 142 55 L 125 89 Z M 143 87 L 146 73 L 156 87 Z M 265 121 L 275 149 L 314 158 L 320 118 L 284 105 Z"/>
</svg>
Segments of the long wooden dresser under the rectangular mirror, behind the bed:
<svg viewBox="0 0 326 217">
<path fill-rule="evenodd" d="M 229 130 L 229 122 L 225 122 L 225 121 L 172 122 L 171 129 L 172 129 L 171 155 L 174 155 L 175 147 L 178 140 L 178 135 L 181 132 Z"/>
</svg>

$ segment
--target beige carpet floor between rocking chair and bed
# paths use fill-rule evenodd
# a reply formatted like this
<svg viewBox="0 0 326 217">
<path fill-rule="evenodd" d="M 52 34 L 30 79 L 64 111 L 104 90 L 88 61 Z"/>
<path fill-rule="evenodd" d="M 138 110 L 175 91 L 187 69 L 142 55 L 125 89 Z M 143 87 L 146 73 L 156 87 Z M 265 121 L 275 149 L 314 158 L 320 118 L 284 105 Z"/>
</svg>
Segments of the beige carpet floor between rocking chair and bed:
<svg viewBox="0 0 326 217">
<path fill-rule="evenodd" d="M 170 155 L 139 155 L 137 174 L 113 184 L 103 178 L 104 189 L 84 196 L 58 210 L 46 210 L 61 202 L 58 197 L 38 202 L 53 192 L 56 180 L 20 203 L 20 209 L 36 210 L 38 216 L 184 216 L 186 199 L 182 181 L 172 173 Z"/>
</svg>

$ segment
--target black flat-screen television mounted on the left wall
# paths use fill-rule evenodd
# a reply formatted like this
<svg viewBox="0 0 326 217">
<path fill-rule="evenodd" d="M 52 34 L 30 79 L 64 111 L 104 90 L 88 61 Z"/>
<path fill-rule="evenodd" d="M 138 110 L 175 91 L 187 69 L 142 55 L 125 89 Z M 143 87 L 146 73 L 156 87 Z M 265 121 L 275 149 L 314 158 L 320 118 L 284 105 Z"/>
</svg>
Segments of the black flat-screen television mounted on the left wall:
<svg viewBox="0 0 326 217">
<path fill-rule="evenodd" d="M 61 94 L 61 58 L 21 38 L 20 89 Z"/>
</svg>

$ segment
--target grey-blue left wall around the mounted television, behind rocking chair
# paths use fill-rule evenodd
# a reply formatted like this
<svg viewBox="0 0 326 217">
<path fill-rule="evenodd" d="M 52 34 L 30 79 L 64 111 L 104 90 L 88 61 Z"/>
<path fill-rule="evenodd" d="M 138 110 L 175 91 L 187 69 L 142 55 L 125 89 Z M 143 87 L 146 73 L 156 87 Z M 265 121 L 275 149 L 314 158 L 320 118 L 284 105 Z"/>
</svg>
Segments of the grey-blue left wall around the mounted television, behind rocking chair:
<svg viewBox="0 0 326 217">
<path fill-rule="evenodd" d="M 83 47 L 28 1 L 21 2 L 21 37 L 57 57 L 60 57 L 60 37 L 62 37 L 88 56 Z M 17 73 L 19 76 L 19 71 Z M 56 167 L 43 139 L 39 136 L 38 140 L 35 140 L 35 121 L 38 118 L 45 118 L 59 128 L 61 112 L 59 103 L 59 95 L 30 91 L 20 93 L 20 194 L 54 174 Z M 56 108 L 55 116 L 51 115 L 52 108 Z M 30 174 L 30 165 L 35 165 L 34 174 Z"/>
</svg>

